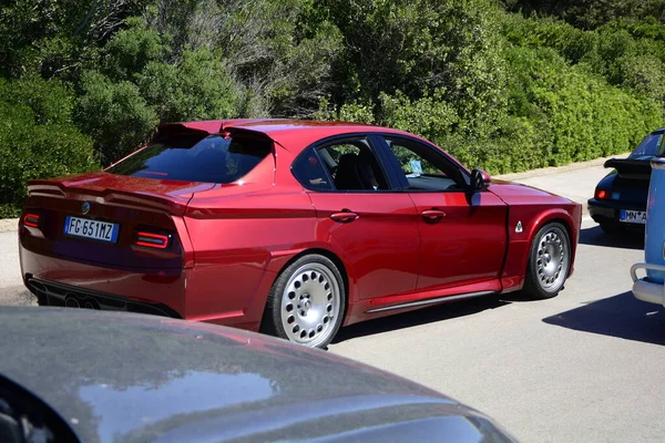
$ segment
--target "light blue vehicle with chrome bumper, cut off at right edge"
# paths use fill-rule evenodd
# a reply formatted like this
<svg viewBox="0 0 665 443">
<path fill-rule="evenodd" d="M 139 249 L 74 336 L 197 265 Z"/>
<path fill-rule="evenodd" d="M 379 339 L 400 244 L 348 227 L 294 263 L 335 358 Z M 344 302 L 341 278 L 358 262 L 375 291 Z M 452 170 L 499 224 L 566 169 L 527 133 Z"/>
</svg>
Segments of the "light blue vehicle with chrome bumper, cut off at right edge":
<svg viewBox="0 0 665 443">
<path fill-rule="evenodd" d="M 653 158 L 649 168 L 653 172 L 646 208 L 645 262 L 633 265 L 631 277 L 635 298 L 665 306 L 665 158 Z M 644 278 L 637 277 L 638 269 L 646 272 Z"/>
</svg>

